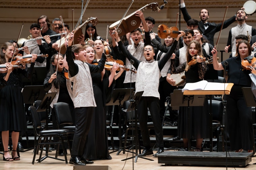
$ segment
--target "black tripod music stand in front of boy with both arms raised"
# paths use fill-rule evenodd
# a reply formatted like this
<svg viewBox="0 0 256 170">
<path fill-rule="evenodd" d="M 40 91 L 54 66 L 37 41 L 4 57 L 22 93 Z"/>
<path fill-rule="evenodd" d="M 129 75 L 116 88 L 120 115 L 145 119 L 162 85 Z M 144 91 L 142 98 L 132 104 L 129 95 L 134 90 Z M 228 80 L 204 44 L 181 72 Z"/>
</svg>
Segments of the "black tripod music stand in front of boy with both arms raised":
<svg viewBox="0 0 256 170">
<path fill-rule="evenodd" d="M 128 107 L 127 109 L 127 112 L 128 111 L 134 111 L 135 110 L 135 137 L 133 138 L 133 140 L 135 140 L 135 156 L 132 156 L 130 158 L 126 158 L 126 159 L 123 159 L 121 161 L 126 161 L 128 159 L 133 159 L 135 158 L 134 160 L 134 163 L 137 162 L 137 159 L 138 158 L 142 158 L 142 159 L 146 159 L 146 160 L 149 160 L 149 161 L 154 161 L 152 159 L 149 159 L 149 158 L 145 158 L 145 157 L 141 157 L 141 156 L 138 156 L 138 116 L 137 116 L 137 104 L 139 103 L 139 100 L 142 96 L 144 91 L 141 91 L 141 92 L 136 92 L 134 97 L 133 97 L 133 100 L 130 100 L 131 104 L 130 106 Z M 133 126 L 133 122 L 132 122 L 132 126 Z M 132 127 L 133 129 L 133 127 Z M 134 135 L 132 135 L 134 136 Z M 133 141 L 132 140 L 132 141 Z M 132 152 L 133 153 L 133 152 Z"/>
</svg>

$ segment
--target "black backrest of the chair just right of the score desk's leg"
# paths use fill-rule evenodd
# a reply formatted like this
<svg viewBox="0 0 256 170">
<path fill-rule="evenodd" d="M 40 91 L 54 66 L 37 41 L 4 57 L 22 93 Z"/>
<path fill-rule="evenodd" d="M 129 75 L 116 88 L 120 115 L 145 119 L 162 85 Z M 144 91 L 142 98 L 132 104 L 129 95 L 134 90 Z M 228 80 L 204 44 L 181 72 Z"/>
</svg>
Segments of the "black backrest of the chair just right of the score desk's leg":
<svg viewBox="0 0 256 170">
<path fill-rule="evenodd" d="M 210 100 L 208 100 L 210 107 Z M 212 113 L 213 113 L 213 121 L 222 122 L 223 115 L 223 103 L 221 101 L 212 100 Z"/>
</svg>

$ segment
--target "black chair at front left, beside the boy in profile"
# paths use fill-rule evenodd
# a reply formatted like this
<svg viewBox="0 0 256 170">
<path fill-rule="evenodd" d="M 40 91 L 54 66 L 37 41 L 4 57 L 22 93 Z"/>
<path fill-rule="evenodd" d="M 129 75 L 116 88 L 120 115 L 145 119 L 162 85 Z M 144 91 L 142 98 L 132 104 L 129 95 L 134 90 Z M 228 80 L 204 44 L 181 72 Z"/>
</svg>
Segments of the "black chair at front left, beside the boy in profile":
<svg viewBox="0 0 256 170">
<path fill-rule="evenodd" d="M 42 146 L 42 147 L 41 147 L 41 152 L 40 152 L 40 156 L 39 156 L 38 162 L 43 161 L 45 158 L 52 158 L 52 159 L 56 159 L 56 160 L 65 161 L 66 164 L 68 164 L 67 155 L 66 155 L 65 152 L 64 152 L 65 160 L 57 158 L 57 156 L 58 156 L 57 155 L 58 154 L 57 150 L 56 150 L 56 155 L 57 156 L 55 155 L 55 157 L 48 156 L 48 153 L 47 153 L 48 149 L 46 149 L 46 155 L 47 156 L 44 157 L 43 159 L 41 159 L 41 157 L 42 157 L 42 151 L 43 151 L 44 145 L 48 145 L 49 146 L 51 144 L 54 144 L 54 145 L 58 145 L 59 146 L 60 144 L 62 144 L 63 151 L 64 151 L 65 150 L 64 143 L 67 143 L 69 148 L 71 149 L 70 144 L 69 144 L 69 138 L 68 138 L 71 135 L 71 131 L 67 130 L 67 129 L 42 130 L 43 128 L 41 126 L 41 122 L 40 122 L 38 113 L 36 111 L 36 108 L 34 106 L 30 106 L 28 108 L 28 110 L 29 110 L 29 113 L 31 114 L 32 124 L 33 124 L 33 128 L 34 128 L 34 133 L 38 137 L 37 140 L 36 140 L 36 146 L 35 146 L 35 151 L 34 151 L 34 157 L 33 157 L 32 164 L 34 164 L 34 162 L 35 162 L 36 154 L 39 151 L 39 146 Z M 51 140 L 48 140 L 48 137 L 50 137 L 50 138 L 51 137 L 59 137 L 60 141 L 51 141 Z M 42 141 L 42 139 L 43 139 L 43 141 Z M 70 151 L 70 153 L 71 153 L 71 151 Z"/>
</svg>

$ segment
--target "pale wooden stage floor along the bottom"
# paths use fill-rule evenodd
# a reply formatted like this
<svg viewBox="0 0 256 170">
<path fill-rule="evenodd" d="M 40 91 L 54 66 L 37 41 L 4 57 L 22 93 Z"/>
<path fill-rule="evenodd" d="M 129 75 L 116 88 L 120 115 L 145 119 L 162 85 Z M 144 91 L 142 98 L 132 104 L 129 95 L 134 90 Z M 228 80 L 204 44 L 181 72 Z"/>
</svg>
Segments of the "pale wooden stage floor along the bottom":
<svg viewBox="0 0 256 170">
<path fill-rule="evenodd" d="M 111 152 L 111 151 L 109 151 Z M 165 152 L 178 152 L 178 151 L 165 151 Z M 44 153 L 44 152 L 43 152 Z M 156 151 L 154 151 L 156 153 Z M 198 166 L 164 166 L 162 164 L 158 164 L 158 159 L 154 158 L 153 156 L 147 156 L 146 158 L 153 159 L 154 161 L 149 161 L 146 159 L 138 158 L 137 162 L 133 164 L 132 159 L 129 159 L 127 161 L 121 161 L 123 159 L 132 157 L 132 153 L 126 152 L 123 154 L 122 152 L 119 155 L 116 155 L 117 152 L 110 154 L 112 157 L 112 160 L 99 160 L 94 161 L 94 164 L 92 165 L 86 165 L 83 167 L 83 169 L 91 169 L 89 166 L 109 166 L 109 170 L 225 170 L 226 167 L 198 167 Z M 1 170 L 34 170 L 34 169 L 40 169 L 40 170 L 73 170 L 73 166 L 71 164 L 66 165 L 64 161 L 58 161 L 51 158 L 46 158 L 41 163 L 35 162 L 34 165 L 31 164 L 33 159 L 33 150 L 20 153 L 21 160 L 20 161 L 13 161 L 13 162 L 6 162 L 3 161 L 2 155 L 0 155 L 0 169 Z M 49 156 L 54 157 L 55 151 L 50 152 Z M 36 159 L 38 159 L 39 155 L 37 155 Z M 61 159 L 64 159 L 64 157 L 58 157 Z M 68 155 L 68 160 L 70 159 L 70 155 Z M 228 170 L 231 169 L 244 169 L 244 170 L 255 170 L 256 165 L 253 165 L 253 163 L 256 163 L 256 157 L 252 157 L 252 162 L 250 162 L 246 167 L 228 167 Z M 87 168 L 86 168 L 87 167 Z M 78 167 L 77 167 L 78 168 Z M 79 166 L 79 168 L 82 168 Z M 93 169 L 101 169 L 99 168 L 93 168 Z"/>
</svg>

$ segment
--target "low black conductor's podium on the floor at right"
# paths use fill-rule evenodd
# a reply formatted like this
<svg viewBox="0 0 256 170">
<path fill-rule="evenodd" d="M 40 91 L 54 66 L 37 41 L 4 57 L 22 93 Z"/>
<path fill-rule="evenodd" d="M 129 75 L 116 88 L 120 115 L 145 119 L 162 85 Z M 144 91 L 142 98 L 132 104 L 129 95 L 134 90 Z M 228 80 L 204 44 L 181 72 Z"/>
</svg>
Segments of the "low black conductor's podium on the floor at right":
<svg viewBox="0 0 256 170">
<path fill-rule="evenodd" d="M 163 152 L 158 155 L 158 163 L 166 166 L 238 166 L 245 167 L 252 161 L 252 153 L 225 152 Z M 230 157 L 229 157 L 230 155 Z M 232 162 L 231 162 L 232 160 Z"/>
</svg>

